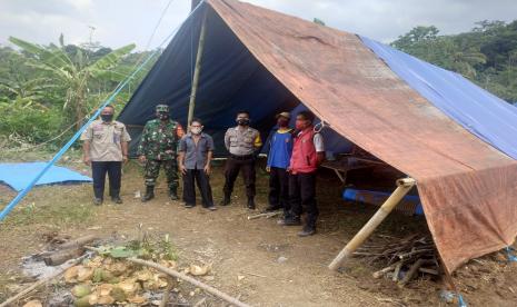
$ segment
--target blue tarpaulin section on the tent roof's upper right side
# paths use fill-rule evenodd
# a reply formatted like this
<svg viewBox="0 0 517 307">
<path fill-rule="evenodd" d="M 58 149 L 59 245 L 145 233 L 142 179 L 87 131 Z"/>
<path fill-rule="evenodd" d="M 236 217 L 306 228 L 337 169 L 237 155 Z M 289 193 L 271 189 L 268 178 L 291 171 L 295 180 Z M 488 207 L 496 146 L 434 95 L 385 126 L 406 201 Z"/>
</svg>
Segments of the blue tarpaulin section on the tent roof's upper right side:
<svg viewBox="0 0 517 307">
<path fill-rule="evenodd" d="M 459 73 L 360 37 L 388 67 L 435 107 L 506 155 L 517 159 L 517 112 L 505 100 Z"/>
</svg>

